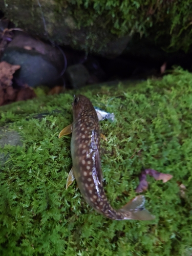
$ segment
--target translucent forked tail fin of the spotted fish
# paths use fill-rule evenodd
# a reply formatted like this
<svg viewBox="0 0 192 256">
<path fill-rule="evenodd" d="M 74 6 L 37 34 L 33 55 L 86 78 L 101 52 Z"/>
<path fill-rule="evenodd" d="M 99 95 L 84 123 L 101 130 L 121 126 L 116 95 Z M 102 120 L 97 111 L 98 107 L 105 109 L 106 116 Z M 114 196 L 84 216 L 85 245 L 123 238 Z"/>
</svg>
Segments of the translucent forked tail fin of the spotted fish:
<svg viewBox="0 0 192 256">
<path fill-rule="evenodd" d="M 144 203 L 145 197 L 140 195 L 125 204 L 119 211 L 129 211 L 133 220 L 154 220 L 155 216 L 145 209 Z"/>
</svg>

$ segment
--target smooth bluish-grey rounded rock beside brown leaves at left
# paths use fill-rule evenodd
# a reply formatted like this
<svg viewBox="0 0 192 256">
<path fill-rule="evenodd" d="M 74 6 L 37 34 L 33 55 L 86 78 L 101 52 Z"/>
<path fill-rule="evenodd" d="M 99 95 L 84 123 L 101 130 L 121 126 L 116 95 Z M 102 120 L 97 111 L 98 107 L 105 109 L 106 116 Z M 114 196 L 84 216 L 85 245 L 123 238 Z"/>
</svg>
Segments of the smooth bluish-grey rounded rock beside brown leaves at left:
<svg viewBox="0 0 192 256">
<path fill-rule="evenodd" d="M 51 87 L 60 76 L 50 59 L 35 50 L 8 47 L 2 60 L 12 65 L 20 65 L 20 69 L 14 74 L 17 84 L 27 83 L 30 87 L 45 84 Z"/>
</svg>

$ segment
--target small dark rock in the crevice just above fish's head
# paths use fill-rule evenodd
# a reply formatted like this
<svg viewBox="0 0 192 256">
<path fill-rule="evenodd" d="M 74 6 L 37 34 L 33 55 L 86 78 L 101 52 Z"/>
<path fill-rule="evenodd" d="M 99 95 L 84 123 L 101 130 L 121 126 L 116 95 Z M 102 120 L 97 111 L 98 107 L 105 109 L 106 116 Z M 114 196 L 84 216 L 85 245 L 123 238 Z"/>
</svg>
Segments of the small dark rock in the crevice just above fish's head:
<svg viewBox="0 0 192 256">
<path fill-rule="evenodd" d="M 76 64 L 67 68 L 66 78 L 73 89 L 78 89 L 85 86 L 90 78 L 90 74 L 82 64 Z"/>
</svg>

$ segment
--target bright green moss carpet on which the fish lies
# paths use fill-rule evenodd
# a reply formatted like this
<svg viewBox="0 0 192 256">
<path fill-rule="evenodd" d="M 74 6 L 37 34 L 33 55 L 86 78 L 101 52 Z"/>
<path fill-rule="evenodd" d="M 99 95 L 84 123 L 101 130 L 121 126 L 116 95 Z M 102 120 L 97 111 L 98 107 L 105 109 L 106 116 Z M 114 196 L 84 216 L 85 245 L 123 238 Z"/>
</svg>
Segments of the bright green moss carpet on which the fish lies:
<svg viewBox="0 0 192 256">
<path fill-rule="evenodd" d="M 167 183 L 148 177 L 143 194 L 156 219 L 106 219 L 75 182 L 65 189 L 71 136 L 58 133 L 72 122 L 74 92 L 18 102 L 0 108 L 0 125 L 24 143 L 0 148 L 8 155 L 0 171 L 0 255 L 191 255 L 192 74 L 176 69 L 162 80 L 81 93 L 116 116 L 101 122 L 104 189 L 114 208 L 136 196 L 143 167 L 174 176 Z"/>
</svg>

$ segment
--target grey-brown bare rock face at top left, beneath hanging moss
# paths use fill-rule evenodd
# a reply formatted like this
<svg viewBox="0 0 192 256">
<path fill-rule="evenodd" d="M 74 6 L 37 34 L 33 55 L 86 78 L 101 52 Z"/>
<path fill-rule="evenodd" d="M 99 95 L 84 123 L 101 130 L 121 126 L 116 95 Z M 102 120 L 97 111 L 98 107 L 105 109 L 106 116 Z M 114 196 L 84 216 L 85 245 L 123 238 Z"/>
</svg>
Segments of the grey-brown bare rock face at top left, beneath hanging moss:
<svg viewBox="0 0 192 256">
<path fill-rule="evenodd" d="M 32 5 L 30 2 L 11 0 L 4 3 L 0 1 L 0 9 L 5 12 L 13 22 L 21 29 L 30 32 L 34 36 L 48 40 L 49 38 L 58 45 L 67 45 L 76 50 L 83 50 L 96 54 L 102 52 L 102 56 L 117 57 L 123 51 L 126 41 L 129 40 L 130 31 L 114 28 L 117 19 L 123 22 L 121 12 L 117 10 L 117 19 L 112 10 L 104 9 L 105 4 L 98 4 L 103 9 L 101 15 L 99 9 L 85 8 L 84 4 L 76 1 L 57 2 L 55 0 L 44 1 L 38 5 L 38 1 Z M 89 5 L 93 5 L 90 3 Z M 101 7 L 103 5 L 103 7 Z M 34 11 L 35 10 L 35 11 Z M 124 26 L 125 27 L 125 26 Z M 46 31 L 45 31 L 46 30 Z M 113 30 L 113 32 L 112 32 Z M 127 39 L 128 38 L 128 39 Z"/>
</svg>

